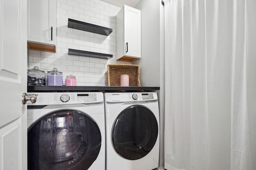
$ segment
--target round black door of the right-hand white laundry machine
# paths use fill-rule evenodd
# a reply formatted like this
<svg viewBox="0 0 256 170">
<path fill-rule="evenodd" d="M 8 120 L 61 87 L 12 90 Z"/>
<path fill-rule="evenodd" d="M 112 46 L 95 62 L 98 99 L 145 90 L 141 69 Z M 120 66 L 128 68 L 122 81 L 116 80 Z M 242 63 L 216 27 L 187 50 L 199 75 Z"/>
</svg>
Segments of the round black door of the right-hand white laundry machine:
<svg viewBox="0 0 256 170">
<path fill-rule="evenodd" d="M 116 118 L 112 130 L 114 149 L 122 157 L 136 160 L 146 156 L 158 136 L 156 117 L 147 107 L 133 105 Z"/>
</svg>

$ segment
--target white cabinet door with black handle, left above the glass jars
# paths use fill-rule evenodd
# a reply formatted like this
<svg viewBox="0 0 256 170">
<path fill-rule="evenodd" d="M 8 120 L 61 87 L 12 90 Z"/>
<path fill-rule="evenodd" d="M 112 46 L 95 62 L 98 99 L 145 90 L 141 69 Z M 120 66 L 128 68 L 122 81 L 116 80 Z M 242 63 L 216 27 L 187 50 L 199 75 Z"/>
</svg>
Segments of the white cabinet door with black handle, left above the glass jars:
<svg viewBox="0 0 256 170">
<path fill-rule="evenodd" d="M 56 0 L 28 0 L 28 41 L 56 45 Z"/>
</svg>

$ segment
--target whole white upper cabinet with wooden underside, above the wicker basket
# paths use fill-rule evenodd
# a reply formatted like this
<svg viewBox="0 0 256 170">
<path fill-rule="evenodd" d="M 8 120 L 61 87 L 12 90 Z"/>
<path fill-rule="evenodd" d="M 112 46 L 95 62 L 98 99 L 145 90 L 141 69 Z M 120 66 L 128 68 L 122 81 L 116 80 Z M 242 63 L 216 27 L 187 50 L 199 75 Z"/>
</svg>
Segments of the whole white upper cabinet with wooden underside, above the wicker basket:
<svg viewBox="0 0 256 170">
<path fill-rule="evenodd" d="M 116 60 L 135 61 L 141 57 L 140 10 L 124 5 L 116 15 Z"/>
</svg>

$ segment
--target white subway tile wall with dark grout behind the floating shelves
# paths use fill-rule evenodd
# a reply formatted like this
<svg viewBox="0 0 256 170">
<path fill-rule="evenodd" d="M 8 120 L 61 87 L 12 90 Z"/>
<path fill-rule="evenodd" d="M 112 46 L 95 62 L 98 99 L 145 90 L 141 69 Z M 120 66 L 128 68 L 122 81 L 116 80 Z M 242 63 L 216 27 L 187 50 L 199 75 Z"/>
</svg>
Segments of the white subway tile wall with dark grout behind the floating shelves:
<svg viewBox="0 0 256 170">
<path fill-rule="evenodd" d="M 56 53 L 29 50 L 29 68 L 47 71 L 57 68 L 76 76 L 78 86 L 108 86 L 107 64 L 116 61 L 116 14 L 121 9 L 101 0 L 56 0 Z M 68 28 L 68 18 L 110 27 L 109 36 Z M 68 48 L 112 54 L 111 59 L 68 55 Z"/>
</svg>

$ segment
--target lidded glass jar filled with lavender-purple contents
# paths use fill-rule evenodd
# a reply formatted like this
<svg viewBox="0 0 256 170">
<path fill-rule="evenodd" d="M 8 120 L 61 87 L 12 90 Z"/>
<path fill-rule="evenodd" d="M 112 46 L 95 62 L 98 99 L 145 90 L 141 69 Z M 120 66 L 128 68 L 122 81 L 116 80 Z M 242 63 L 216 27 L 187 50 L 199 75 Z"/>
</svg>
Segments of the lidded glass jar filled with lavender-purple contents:
<svg viewBox="0 0 256 170">
<path fill-rule="evenodd" d="M 47 86 L 63 86 L 63 75 L 57 68 L 47 72 Z"/>
</svg>

